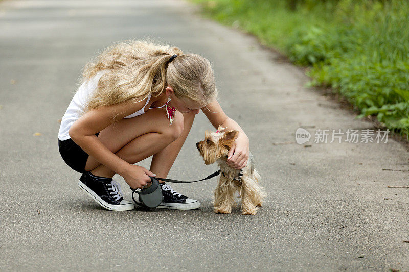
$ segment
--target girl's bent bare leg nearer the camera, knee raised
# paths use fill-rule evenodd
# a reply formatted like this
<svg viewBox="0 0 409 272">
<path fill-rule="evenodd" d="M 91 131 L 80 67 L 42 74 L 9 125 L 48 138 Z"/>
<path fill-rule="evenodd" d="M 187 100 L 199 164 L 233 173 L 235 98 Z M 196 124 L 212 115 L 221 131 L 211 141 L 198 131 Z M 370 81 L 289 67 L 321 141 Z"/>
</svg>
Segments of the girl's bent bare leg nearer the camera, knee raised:
<svg viewBox="0 0 409 272">
<path fill-rule="evenodd" d="M 111 124 L 99 133 L 98 139 L 118 157 L 134 164 L 177 140 L 183 128 L 184 117 L 180 112 L 175 112 L 170 125 L 165 109 L 150 109 L 142 115 Z M 92 174 L 100 177 L 111 178 L 116 174 L 91 156 L 87 159 L 85 170 L 92 170 Z"/>
</svg>

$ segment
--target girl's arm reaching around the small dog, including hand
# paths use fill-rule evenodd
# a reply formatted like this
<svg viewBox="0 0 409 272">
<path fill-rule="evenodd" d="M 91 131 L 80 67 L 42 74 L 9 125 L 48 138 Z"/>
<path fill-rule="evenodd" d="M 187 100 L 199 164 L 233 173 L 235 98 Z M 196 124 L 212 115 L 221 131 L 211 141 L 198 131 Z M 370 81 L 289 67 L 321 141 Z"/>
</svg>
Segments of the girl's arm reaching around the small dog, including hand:
<svg viewBox="0 0 409 272">
<path fill-rule="evenodd" d="M 217 100 L 209 103 L 201 108 L 201 110 L 216 129 L 221 125 L 226 130 L 239 131 L 235 144 L 229 150 L 227 164 L 235 169 L 241 169 L 246 166 L 250 153 L 249 140 L 238 123 L 224 113 Z"/>
</svg>

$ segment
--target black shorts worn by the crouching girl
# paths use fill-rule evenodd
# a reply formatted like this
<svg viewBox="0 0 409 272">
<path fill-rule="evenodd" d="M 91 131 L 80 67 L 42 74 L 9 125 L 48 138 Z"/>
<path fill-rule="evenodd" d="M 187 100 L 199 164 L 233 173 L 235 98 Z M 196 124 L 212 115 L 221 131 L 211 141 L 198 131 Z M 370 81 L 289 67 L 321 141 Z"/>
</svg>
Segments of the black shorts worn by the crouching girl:
<svg viewBox="0 0 409 272">
<path fill-rule="evenodd" d="M 95 135 L 98 137 L 98 133 Z M 71 138 L 61 141 L 58 139 L 58 150 L 64 162 L 77 172 L 85 172 L 85 164 L 88 154 L 81 149 Z"/>
</svg>

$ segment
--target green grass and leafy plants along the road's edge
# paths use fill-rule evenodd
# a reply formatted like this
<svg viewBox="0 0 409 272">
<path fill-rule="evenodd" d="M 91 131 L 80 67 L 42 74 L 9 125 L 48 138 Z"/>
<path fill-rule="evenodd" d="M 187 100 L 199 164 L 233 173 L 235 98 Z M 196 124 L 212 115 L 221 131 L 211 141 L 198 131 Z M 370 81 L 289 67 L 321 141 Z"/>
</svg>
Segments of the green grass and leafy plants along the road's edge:
<svg viewBox="0 0 409 272">
<path fill-rule="evenodd" d="M 207 16 L 308 66 L 309 86 L 409 135 L 409 1 L 191 0 Z"/>
</svg>

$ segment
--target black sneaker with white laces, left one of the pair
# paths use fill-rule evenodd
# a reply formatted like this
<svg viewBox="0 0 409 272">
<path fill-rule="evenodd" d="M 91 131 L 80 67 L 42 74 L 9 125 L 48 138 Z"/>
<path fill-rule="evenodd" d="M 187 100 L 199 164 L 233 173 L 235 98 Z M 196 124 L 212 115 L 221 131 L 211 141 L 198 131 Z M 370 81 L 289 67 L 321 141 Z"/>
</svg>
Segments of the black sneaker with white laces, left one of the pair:
<svg viewBox="0 0 409 272">
<path fill-rule="evenodd" d="M 122 197 L 121 185 L 112 179 L 82 174 L 78 186 L 99 205 L 111 211 L 133 210 L 133 203 Z"/>
</svg>

